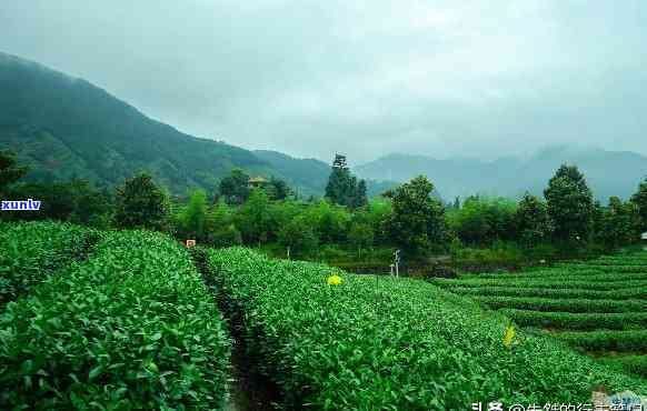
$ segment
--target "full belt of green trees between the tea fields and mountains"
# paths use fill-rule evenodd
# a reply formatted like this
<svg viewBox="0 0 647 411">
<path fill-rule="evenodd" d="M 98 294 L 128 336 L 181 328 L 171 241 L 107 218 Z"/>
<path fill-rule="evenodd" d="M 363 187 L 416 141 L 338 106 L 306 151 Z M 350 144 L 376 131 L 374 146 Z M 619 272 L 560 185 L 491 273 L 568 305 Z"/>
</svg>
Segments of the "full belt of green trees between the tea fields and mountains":
<svg viewBox="0 0 647 411">
<path fill-rule="evenodd" d="M 444 204 L 431 196 L 424 176 L 382 196 L 366 196 L 337 156 L 322 199 L 298 199 L 277 178 L 253 187 L 239 169 L 220 181 L 216 193 L 196 189 L 187 200 L 172 198 L 148 173 L 139 173 L 116 190 L 87 181 L 20 182 L 26 169 L 10 153 L 0 154 L 2 199 L 42 201 L 34 211 L 2 212 L 2 219 L 56 219 L 102 229 L 143 228 L 196 239 L 213 247 L 268 247 L 276 253 L 311 258 L 325 250 L 361 257 L 375 250 L 400 249 L 409 260 L 465 248 L 491 248 L 501 242 L 521 250 L 541 247 L 581 250 L 618 248 L 639 241 L 647 231 L 647 178 L 623 201 L 595 201 L 584 174 L 561 166 L 543 198 L 526 192 L 519 201 L 471 196 Z"/>
</svg>

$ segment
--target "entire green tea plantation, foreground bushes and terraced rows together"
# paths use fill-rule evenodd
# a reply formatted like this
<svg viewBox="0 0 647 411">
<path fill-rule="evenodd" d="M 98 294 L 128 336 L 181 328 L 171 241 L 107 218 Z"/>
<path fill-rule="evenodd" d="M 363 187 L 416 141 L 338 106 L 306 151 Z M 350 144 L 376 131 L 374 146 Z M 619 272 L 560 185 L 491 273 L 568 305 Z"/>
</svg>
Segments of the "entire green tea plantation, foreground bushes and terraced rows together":
<svg viewBox="0 0 647 411">
<path fill-rule="evenodd" d="M 629 297 L 624 288 L 573 285 L 621 282 L 613 277 L 647 283 L 637 271 L 646 254 L 437 287 L 243 248 L 196 249 L 191 259 L 146 231 L 0 228 L 2 410 L 222 409 L 230 332 L 283 409 L 581 403 L 600 385 L 647 393 L 638 375 L 644 285 L 631 285 Z M 620 261 L 626 270 L 614 271 Z M 504 341 L 504 314 L 550 335 L 517 331 Z M 631 355 L 594 360 L 568 344 Z"/>
</svg>

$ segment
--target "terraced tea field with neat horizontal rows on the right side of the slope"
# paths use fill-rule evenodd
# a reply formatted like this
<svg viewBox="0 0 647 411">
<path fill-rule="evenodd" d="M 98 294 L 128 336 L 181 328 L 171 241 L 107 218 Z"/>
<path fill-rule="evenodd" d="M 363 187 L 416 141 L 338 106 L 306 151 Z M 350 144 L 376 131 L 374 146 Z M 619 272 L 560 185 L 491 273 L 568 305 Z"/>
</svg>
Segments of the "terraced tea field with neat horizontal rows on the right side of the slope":
<svg viewBox="0 0 647 411">
<path fill-rule="evenodd" d="M 497 310 L 532 333 L 647 377 L 647 252 L 432 282 Z"/>
</svg>

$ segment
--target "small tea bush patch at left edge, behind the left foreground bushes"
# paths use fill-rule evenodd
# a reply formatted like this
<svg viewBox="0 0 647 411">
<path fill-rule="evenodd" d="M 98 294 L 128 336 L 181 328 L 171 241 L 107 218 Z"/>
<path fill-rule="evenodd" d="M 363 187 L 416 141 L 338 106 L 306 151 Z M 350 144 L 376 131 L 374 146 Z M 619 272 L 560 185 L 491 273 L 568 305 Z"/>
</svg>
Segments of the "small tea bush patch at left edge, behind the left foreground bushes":
<svg viewBox="0 0 647 411">
<path fill-rule="evenodd" d="M 56 222 L 3 223 L 0 228 L 0 308 L 86 257 L 96 231 Z"/>
</svg>

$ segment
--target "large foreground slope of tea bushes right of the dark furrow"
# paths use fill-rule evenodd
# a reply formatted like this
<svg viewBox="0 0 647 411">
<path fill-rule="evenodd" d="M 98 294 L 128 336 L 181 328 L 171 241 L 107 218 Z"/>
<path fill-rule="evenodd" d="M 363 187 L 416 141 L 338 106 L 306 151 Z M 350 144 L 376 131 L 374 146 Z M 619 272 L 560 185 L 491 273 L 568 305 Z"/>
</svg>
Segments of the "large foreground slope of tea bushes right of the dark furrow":
<svg viewBox="0 0 647 411">
<path fill-rule="evenodd" d="M 429 283 L 340 273 L 271 260 L 250 250 L 210 250 L 206 275 L 239 319 L 248 354 L 298 409 L 461 410 L 475 401 L 585 402 L 596 384 L 647 393 L 553 340 Z M 337 271 L 337 273 L 339 273 Z"/>
</svg>

